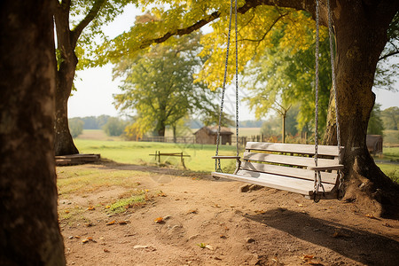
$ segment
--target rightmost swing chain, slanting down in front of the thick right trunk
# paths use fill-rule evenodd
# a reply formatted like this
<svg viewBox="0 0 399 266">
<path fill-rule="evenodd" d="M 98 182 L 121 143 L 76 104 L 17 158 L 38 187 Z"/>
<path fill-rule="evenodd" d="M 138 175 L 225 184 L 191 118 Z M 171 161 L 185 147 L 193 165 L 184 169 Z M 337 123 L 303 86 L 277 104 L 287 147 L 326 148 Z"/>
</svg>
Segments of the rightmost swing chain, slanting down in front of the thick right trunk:
<svg viewBox="0 0 399 266">
<path fill-rule="evenodd" d="M 332 14 L 331 14 L 331 6 L 330 6 L 330 0 L 327 0 L 327 10 L 328 10 L 328 35 L 330 37 L 330 59 L 331 59 L 331 68 L 332 68 L 332 89 L 334 90 L 334 101 L 335 101 L 335 124 L 337 127 L 337 145 L 338 145 L 338 157 L 341 160 L 341 150 L 340 150 L 340 123 L 339 123 L 339 109 L 338 109 L 338 96 L 337 96 L 337 82 L 335 80 L 335 63 L 334 63 L 334 50 L 333 50 L 333 45 L 332 45 Z M 340 161 L 341 163 L 341 161 Z M 341 195 L 343 194 L 342 190 L 342 184 L 343 184 L 343 175 L 342 172 L 339 171 L 339 184 L 338 184 L 338 190 L 339 190 L 339 199 L 341 198 Z"/>
</svg>

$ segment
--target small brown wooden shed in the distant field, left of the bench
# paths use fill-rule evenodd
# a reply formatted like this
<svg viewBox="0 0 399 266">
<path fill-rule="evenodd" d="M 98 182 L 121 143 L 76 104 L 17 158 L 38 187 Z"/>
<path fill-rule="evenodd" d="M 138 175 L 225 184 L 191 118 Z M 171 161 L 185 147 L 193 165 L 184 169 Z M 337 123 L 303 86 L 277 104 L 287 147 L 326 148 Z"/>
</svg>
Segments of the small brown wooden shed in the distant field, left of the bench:
<svg viewBox="0 0 399 266">
<path fill-rule="evenodd" d="M 202 127 L 201 129 L 197 130 L 195 135 L 195 143 L 197 144 L 208 144 L 208 145 L 215 145 L 216 138 L 217 138 L 217 129 L 218 127 Z M 231 145 L 231 129 L 222 127 L 220 130 L 220 144 L 221 145 Z"/>
</svg>

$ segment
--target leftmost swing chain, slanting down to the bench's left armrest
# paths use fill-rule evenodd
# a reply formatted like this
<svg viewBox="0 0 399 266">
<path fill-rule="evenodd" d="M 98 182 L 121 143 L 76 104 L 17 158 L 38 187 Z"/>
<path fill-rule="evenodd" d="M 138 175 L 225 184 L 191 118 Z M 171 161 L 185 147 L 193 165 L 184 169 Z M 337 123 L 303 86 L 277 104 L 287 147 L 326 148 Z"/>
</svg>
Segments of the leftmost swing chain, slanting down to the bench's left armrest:
<svg viewBox="0 0 399 266">
<path fill-rule="evenodd" d="M 237 1 L 237 0 L 236 0 Z M 215 156 L 219 154 L 219 143 L 220 143 L 220 131 L 222 125 L 222 115 L 223 115 L 223 105 L 224 105 L 224 92 L 226 90 L 226 80 L 227 80 L 227 66 L 229 63 L 229 50 L 230 50 L 230 36 L 231 36 L 231 17 L 232 17 L 232 3 L 230 4 L 230 20 L 229 20 L 229 33 L 227 35 L 227 49 L 226 49 L 226 61 L 224 64 L 224 75 L 223 75 L 223 89 L 222 89 L 222 100 L 220 103 L 220 113 L 219 113 L 219 127 L 217 128 L 217 137 L 216 137 L 216 152 Z M 215 171 L 222 172 L 222 167 L 220 165 L 220 159 L 215 160 Z"/>
</svg>

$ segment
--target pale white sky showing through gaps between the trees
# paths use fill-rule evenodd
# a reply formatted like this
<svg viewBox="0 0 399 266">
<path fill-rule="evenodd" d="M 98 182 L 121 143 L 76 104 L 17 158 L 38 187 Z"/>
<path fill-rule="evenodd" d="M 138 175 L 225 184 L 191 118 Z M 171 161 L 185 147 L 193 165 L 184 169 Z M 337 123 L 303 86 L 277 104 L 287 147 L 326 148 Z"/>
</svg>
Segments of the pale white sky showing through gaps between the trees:
<svg viewBox="0 0 399 266">
<path fill-rule="evenodd" d="M 141 12 L 133 6 L 128 6 L 125 12 L 116 18 L 110 25 L 104 27 L 105 34 L 109 37 L 120 35 L 123 31 L 129 30 L 134 24 L 135 18 Z M 399 64 L 399 59 L 395 61 Z M 68 101 L 68 117 L 99 116 L 107 114 L 110 116 L 121 116 L 113 106 L 113 95 L 121 93 L 119 86 L 121 79 L 113 80 L 113 66 L 108 64 L 102 67 L 89 68 L 78 71 L 75 78 L 77 91 Z M 233 90 L 228 88 L 227 90 Z M 395 84 L 395 89 L 399 90 L 399 82 Z M 387 90 L 373 89 L 376 94 L 376 103 L 381 105 L 381 110 L 391 106 L 399 106 L 399 91 L 392 92 Z M 234 113 L 234 94 L 233 91 L 227 92 L 225 104 L 226 113 Z M 244 91 L 245 94 L 245 91 Z M 239 103 L 239 120 L 255 120 L 254 111 L 249 110 L 245 103 Z"/>
</svg>

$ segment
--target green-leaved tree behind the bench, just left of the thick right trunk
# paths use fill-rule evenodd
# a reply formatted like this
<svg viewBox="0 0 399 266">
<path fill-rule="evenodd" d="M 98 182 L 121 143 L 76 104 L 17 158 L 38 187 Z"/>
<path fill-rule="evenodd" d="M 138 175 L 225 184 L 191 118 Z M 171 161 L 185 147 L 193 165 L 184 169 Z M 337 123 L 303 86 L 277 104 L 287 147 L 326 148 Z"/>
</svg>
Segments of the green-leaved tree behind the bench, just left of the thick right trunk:
<svg viewBox="0 0 399 266">
<path fill-rule="evenodd" d="M 306 27 L 304 34 L 311 39 L 314 28 L 308 23 L 297 22 Z M 293 28 L 284 27 L 286 32 Z M 244 71 L 249 97 L 246 100 L 254 109 L 256 117 L 264 117 L 270 110 L 278 109 L 278 102 L 284 106 L 296 105 L 298 127 L 304 130 L 315 122 L 315 44 L 301 49 L 282 41 L 284 33 L 276 33 L 273 46 L 262 51 L 262 57 L 251 61 Z M 331 63 L 329 43 L 325 29 L 322 31 L 319 59 L 319 132 L 325 131 L 328 101 L 331 86 Z"/>
</svg>

